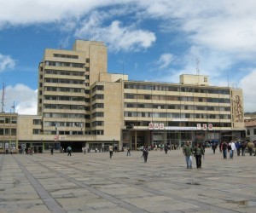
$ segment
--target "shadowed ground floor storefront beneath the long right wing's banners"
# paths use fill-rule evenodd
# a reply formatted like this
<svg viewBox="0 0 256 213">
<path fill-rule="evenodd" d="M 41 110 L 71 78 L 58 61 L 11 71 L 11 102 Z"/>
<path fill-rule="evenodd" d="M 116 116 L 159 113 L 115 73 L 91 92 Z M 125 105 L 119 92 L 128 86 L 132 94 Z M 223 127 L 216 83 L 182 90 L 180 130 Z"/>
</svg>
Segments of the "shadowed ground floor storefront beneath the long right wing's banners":
<svg viewBox="0 0 256 213">
<path fill-rule="evenodd" d="M 245 138 L 244 130 L 198 131 L 198 130 L 123 130 L 123 146 L 137 147 L 183 147 L 185 141 L 219 143 L 220 141 L 238 141 Z"/>
</svg>

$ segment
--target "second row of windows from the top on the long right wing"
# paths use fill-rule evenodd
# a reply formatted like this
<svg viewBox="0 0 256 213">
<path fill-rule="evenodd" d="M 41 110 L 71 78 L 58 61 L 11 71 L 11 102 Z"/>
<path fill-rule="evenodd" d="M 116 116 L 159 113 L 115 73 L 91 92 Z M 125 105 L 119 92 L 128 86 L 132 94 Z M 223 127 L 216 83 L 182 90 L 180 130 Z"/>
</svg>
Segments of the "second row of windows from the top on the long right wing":
<svg viewBox="0 0 256 213">
<path fill-rule="evenodd" d="M 158 101 L 193 101 L 193 102 L 210 102 L 210 103 L 230 103 L 230 99 L 226 98 L 204 98 L 191 96 L 176 95 L 145 95 L 145 94 L 129 94 L 125 93 L 126 99 L 137 100 L 158 100 Z"/>
</svg>

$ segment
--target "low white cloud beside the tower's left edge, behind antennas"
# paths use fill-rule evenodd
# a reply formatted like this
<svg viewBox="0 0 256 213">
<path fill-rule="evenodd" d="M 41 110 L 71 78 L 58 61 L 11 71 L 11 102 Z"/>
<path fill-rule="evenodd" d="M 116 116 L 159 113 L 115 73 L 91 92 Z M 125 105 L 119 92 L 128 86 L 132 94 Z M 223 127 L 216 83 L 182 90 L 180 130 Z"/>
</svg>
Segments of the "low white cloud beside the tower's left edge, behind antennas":
<svg viewBox="0 0 256 213">
<path fill-rule="evenodd" d="M 3 89 L 0 90 L 1 95 Z M 1 96 L 2 97 L 2 96 Z M 24 84 L 9 85 L 5 88 L 4 111 L 13 112 L 11 108 L 15 103 L 15 112 L 19 114 L 37 114 L 38 90 L 33 90 Z"/>
</svg>

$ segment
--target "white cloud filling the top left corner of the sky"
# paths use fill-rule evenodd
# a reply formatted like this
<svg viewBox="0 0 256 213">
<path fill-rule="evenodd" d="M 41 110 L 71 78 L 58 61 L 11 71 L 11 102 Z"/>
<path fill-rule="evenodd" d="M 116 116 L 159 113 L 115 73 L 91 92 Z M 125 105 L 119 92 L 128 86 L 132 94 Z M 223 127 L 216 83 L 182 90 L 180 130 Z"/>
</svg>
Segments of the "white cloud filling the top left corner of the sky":
<svg viewBox="0 0 256 213">
<path fill-rule="evenodd" d="M 91 9 L 119 3 L 117 0 L 25 0 L 2 1 L 0 26 L 31 25 L 77 18 Z"/>
</svg>

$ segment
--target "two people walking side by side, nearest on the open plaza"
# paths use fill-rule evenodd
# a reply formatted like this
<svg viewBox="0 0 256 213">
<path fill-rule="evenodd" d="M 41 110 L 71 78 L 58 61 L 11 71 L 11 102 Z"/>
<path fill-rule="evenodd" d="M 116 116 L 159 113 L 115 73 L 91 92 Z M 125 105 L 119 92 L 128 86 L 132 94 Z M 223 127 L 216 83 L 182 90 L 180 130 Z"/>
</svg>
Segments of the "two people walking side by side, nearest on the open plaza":
<svg viewBox="0 0 256 213">
<path fill-rule="evenodd" d="M 197 143 L 195 147 L 192 146 L 190 141 L 186 141 L 183 147 L 183 154 L 185 156 L 187 169 L 192 169 L 192 156 L 195 156 L 196 168 L 201 169 L 201 158 L 205 154 L 204 147 L 201 146 L 201 143 Z"/>
</svg>

